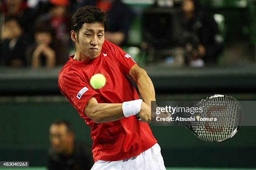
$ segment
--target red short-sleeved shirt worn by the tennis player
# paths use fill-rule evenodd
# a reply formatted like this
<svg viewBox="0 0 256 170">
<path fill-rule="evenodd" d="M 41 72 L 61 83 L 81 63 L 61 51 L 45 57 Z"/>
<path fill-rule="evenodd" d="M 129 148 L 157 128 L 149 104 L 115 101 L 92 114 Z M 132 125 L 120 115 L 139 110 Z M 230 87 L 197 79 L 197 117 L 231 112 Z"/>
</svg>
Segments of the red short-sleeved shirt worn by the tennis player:
<svg viewBox="0 0 256 170">
<path fill-rule="evenodd" d="M 100 55 L 94 60 L 77 61 L 73 57 L 59 73 L 59 89 L 91 128 L 94 161 L 123 160 L 151 148 L 157 141 L 148 123 L 138 121 L 136 116 L 97 124 L 84 113 L 92 97 L 99 103 L 123 103 L 139 99 L 126 76 L 136 64 L 131 56 L 105 40 Z M 104 87 L 94 90 L 89 82 L 92 75 L 97 73 L 105 75 L 107 82 Z"/>
</svg>

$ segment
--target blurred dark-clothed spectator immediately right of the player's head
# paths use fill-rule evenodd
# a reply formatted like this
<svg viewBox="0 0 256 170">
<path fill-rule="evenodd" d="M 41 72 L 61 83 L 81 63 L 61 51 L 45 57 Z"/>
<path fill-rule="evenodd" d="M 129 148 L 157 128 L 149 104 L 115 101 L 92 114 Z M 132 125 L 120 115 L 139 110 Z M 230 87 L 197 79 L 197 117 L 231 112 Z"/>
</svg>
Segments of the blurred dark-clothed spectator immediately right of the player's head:
<svg viewBox="0 0 256 170">
<path fill-rule="evenodd" d="M 92 5 L 108 13 L 108 30 L 105 32 L 106 40 L 116 45 L 125 43 L 130 28 L 133 11 L 120 0 L 88 0 L 83 6 Z"/>
</svg>

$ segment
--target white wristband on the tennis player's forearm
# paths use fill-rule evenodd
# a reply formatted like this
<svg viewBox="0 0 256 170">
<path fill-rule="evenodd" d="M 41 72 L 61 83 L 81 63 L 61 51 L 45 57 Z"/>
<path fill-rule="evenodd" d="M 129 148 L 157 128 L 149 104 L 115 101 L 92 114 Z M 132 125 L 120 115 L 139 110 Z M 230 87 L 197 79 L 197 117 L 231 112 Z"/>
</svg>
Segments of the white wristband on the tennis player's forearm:
<svg viewBox="0 0 256 170">
<path fill-rule="evenodd" d="M 123 102 L 123 115 L 129 117 L 141 111 L 141 99 Z"/>
</svg>

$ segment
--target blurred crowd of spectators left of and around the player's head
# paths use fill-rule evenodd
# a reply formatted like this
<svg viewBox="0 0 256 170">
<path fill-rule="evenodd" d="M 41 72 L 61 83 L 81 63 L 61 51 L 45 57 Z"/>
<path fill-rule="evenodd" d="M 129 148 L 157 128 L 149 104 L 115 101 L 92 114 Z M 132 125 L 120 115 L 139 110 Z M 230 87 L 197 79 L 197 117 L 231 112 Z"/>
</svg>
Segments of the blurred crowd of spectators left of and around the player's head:
<svg viewBox="0 0 256 170">
<path fill-rule="evenodd" d="M 108 13 L 106 39 L 125 43 L 133 12 L 120 0 L 0 0 L 0 65 L 64 65 L 73 50 L 70 18 L 84 5 Z"/>
</svg>

